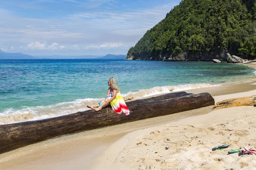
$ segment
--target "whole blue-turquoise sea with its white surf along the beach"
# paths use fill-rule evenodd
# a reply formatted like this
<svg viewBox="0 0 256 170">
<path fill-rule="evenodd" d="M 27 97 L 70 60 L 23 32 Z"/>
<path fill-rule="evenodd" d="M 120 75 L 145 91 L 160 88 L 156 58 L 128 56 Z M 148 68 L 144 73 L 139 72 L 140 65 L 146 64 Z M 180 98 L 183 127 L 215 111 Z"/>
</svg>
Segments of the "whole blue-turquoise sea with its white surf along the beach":
<svg viewBox="0 0 256 170">
<path fill-rule="evenodd" d="M 244 65 L 104 59 L 0 60 L 0 124 L 87 110 L 115 77 L 124 98 L 255 79 Z"/>
</svg>

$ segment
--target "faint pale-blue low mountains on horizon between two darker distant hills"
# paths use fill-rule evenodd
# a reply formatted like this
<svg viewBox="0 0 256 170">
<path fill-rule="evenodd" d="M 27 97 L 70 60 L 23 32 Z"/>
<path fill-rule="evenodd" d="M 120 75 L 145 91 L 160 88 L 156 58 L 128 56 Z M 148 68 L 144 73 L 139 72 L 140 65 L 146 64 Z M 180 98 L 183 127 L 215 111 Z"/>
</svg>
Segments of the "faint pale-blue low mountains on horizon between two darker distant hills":
<svg viewBox="0 0 256 170">
<path fill-rule="evenodd" d="M 102 56 L 93 55 L 82 55 L 82 56 L 63 56 L 63 55 L 52 55 L 52 56 L 35 56 L 38 59 L 95 59 Z"/>
</svg>

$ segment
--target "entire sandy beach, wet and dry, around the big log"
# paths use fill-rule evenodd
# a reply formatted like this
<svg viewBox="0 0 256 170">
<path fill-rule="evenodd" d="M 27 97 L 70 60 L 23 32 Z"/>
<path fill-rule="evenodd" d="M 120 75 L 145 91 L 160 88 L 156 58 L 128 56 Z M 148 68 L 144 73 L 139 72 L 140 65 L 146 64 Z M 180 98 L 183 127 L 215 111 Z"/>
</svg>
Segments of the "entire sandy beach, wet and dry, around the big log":
<svg viewBox="0 0 256 170">
<path fill-rule="evenodd" d="M 249 63 L 256 66 L 256 62 Z M 215 103 L 256 94 L 256 81 L 200 88 Z M 256 149 L 256 107 L 212 111 L 212 106 L 85 131 L 0 155 L 2 170 L 236 170 L 256 169 L 256 156 L 227 155 Z M 213 147 L 230 144 L 224 150 Z"/>
</svg>

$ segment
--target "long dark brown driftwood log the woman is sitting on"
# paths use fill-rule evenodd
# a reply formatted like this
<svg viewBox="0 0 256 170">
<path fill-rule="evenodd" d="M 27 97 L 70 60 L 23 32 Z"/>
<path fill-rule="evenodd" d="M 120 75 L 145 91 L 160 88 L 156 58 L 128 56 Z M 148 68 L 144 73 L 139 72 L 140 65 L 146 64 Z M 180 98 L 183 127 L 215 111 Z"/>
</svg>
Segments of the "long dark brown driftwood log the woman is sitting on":
<svg viewBox="0 0 256 170">
<path fill-rule="evenodd" d="M 0 125 L 0 153 L 69 133 L 117 125 L 214 105 L 208 93 L 171 93 L 126 102 L 130 115 L 115 113 L 110 106 L 99 112 L 77 112 L 50 119 Z"/>
</svg>

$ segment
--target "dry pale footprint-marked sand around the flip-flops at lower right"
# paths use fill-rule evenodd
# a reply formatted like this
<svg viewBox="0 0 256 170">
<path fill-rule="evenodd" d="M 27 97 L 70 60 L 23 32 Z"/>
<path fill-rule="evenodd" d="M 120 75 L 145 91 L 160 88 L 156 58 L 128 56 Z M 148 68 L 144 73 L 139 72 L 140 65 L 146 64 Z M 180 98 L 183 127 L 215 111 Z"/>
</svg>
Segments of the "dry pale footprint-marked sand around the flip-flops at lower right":
<svg viewBox="0 0 256 170">
<path fill-rule="evenodd" d="M 228 108 L 137 130 L 108 147 L 93 169 L 256 169 L 255 155 L 227 155 L 230 149 L 256 148 L 255 113 L 253 107 Z M 212 151 L 222 144 L 231 146 Z"/>
</svg>

